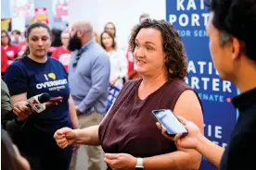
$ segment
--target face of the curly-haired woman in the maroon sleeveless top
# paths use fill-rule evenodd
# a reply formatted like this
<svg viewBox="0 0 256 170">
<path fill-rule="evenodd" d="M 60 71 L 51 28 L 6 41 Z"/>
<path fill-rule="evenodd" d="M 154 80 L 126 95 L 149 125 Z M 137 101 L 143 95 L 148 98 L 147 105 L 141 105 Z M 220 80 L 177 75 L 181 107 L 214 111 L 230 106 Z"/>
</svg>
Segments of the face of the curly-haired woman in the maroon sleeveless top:
<svg viewBox="0 0 256 170">
<path fill-rule="evenodd" d="M 135 38 L 134 62 L 136 70 L 143 76 L 154 76 L 166 70 L 165 53 L 160 30 L 141 29 Z"/>
</svg>

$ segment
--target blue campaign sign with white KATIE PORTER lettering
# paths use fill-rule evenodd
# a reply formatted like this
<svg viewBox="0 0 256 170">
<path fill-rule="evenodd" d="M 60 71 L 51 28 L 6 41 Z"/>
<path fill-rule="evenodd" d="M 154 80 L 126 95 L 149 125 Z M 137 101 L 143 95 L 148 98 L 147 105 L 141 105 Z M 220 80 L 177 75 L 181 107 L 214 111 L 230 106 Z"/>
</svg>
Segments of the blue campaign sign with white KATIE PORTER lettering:
<svg viewBox="0 0 256 170">
<path fill-rule="evenodd" d="M 203 104 L 205 136 L 225 147 L 237 121 L 237 110 L 231 103 L 237 88 L 220 79 L 213 66 L 205 30 L 208 18 L 204 0 L 166 0 L 166 19 L 179 31 L 186 47 L 186 82 L 198 92 Z M 200 169 L 216 168 L 203 159 Z"/>
</svg>

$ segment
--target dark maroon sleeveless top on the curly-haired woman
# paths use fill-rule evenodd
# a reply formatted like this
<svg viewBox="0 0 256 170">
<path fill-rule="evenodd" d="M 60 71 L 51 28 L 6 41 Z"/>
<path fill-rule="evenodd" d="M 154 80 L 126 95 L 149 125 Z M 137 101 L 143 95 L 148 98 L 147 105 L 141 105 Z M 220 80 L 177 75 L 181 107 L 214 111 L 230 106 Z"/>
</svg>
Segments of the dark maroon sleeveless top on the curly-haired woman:
<svg viewBox="0 0 256 170">
<path fill-rule="evenodd" d="M 141 81 L 131 80 L 123 86 L 109 115 L 100 125 L 98 134 L 104 152 L 150 157 L 177 150 L 173 141 L 161 135 L 151 112 L 173 110 L 179 96 L 192 89 L 182 79 L 173 79 L 145 100 L 140 100 L 138 87 Z"/>
</svg>

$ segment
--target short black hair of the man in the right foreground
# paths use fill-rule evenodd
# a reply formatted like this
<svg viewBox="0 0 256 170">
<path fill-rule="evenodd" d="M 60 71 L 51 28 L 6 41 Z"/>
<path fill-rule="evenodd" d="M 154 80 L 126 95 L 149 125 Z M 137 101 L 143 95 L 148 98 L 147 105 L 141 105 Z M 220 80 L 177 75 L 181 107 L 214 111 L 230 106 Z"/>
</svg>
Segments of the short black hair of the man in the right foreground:
<svg viewBox="0 0 256 170">
<path fill-rule="evenodd" d="M 210 0 L 206 4 L 214 14 L 214 27 L 222 34 L 236 37 L 243 44 L 241 50 L 245 55 L 256 61 L 256 1 Z"/>
</svg>

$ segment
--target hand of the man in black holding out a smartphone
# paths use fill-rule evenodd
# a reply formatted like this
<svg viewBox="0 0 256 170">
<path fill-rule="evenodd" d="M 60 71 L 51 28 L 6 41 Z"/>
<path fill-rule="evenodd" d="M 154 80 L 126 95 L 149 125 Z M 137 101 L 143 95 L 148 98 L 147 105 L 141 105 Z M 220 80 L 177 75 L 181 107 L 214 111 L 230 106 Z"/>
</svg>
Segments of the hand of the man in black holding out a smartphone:
<svg viewBox="0 0 256 170">
<path fill-rule="evenodd" d="M 157 123 L 157 127 L 161 129 L 161 133 L 164 137 L 170 140 L 174 140 L 175 144 L 178 147 L 197 150 L 199 140 L 200 138 L 203 137 L 203 134 L 201 134 L 198 126 L 195 125 L 193 122 L 187 121 L 185 118 L 181 116 L 179 116 L 178 118 L 188 131 L 186 135 L 180 133 L 175 135 L 175 137 L 170 137 L 166 134 L 166 128 L 162 128 L 160 123 Z"/>
</svg>

